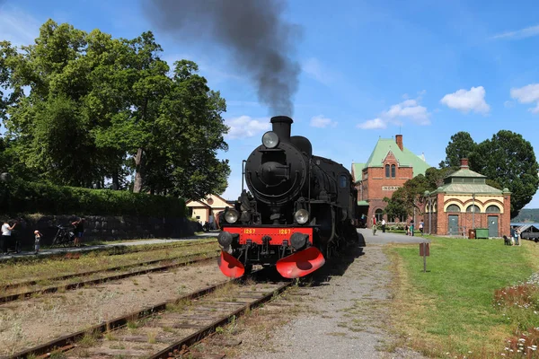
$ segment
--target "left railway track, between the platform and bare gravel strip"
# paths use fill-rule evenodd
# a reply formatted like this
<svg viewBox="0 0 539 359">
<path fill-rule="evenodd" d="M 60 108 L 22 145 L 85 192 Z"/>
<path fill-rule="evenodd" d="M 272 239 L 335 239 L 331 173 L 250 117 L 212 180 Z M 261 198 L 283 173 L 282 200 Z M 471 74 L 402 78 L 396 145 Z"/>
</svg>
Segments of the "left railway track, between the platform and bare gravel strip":
<svg viewBox="0 0 539 359">
<path fill-rule="evenodd" d="M 31 297 L 32 295 L 38 294 L 38 293 L 56 293 L 59 290 L 71 290 L 71 289 L 81 288 L 81 287 L 86 286 L 86 285 L 97 285 L 97 284 L 101 284 L 101 283 L 104 283 L 104 282 L 109 282 L 109 281 L 112 281 L 112 280 L 124 279 L 124 278 L 128 278 L 129 276 L 140 276 L 140 275 L 144 275 L 144 274 L 152 273 L 152 272 L 162 272 L 162 271 L 172 269 L 172 268 L 175 268 L 175 267 L 183 267 L 183 266 L 188 266 L 188 265 L 195 264 L 195 263 L 205 262 L 205 261 L 209 261 L 209 260 L 215 260 L 218 257 L 217 256 L 218 252 L 219 252 L 219 250 L 216 250 L 215 252 L 213 252 L 213 251 L 212 252 L 201 252 L 201 253 L 191 254 L 191 255 L 188 255 L 188 256 L 180 256 L 180 257 L 176 257 L 176 258 L 162 258 L 162 259 L 151 260 L 151 261 L 137 263 L 137 264 L 128 265 L 128 266 L 107 268 L 107 269 L 104 269 L 104 270 L 95 270 L 95 271 L 84 272 L 84 273 L 76 273 L 76 274 L 67 275 L 67 276 L 58 276 L 56 278 L 49 278 L 48 280 L 51 280 L 51 281 L 65 281 L 65 280 L 68 280 L 70 278 L 75 278 L 75 277 L 80 277 L 80 276 L 95 276 L 95 275 L 99 275 L 100 273 L 104 274 L 104 273 L 112 272 L 112 271 L 128 270 L 129 268 L 134 268 L 134 267 L 144 267 L 144 268 L 139 269 L 139 270 L 128 271 L 128 272 L 119 273 L 119 274 L 114 274 L 112 276 L 100 276 L 98 278 L 87 279 L 87 280 L 84 280 L 84 281 L 77 281 L 75 283 L 62 284 L 62 285 L 49 285 L 49 286 L 46 286 L 46 287 L 41 287 L 41 288 L 29 290 L 29 291 L 20 292 L 20 293 L 10 293 L 10 294 L 0 296 L 0 303 L 13 302 L 13 301 L 21 300 L 23 298 L 28 298 L 28 297 Z M 206 254 L 210 254 L 210 256 L 209 257 L 205 256 Z M 211 254 L 213 254 L 213 255 L 211 255 Z M 152 265 L 157 264 L 159 262 L 171 261 L 171 260 L 172 261 L 173 260 L 179 260 L 179 261 L 176 262 L 176 263 L 167 264 L 167 265 L 163 265 L 163 266 L 146 267 L 146 266 L 152 266 Z M 37 281 L 31 281 L 31 282 L 28 282 L 28 285 L 31 285 L 31 284 L 35 285 L 37 283 L 38 283 Z M 20 285 L 22 285 L 22 284 L 19 284 L 17 286 L 20 286 Z M 5 288 L 5 286 L 4 286 L 4 288 Z"/>
</svg>

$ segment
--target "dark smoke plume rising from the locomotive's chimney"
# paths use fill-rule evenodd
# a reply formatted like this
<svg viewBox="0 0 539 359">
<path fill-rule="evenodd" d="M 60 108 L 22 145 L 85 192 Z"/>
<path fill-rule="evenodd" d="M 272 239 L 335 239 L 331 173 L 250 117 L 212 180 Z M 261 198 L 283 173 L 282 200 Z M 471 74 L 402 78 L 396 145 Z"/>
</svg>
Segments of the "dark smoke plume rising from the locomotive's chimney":
<svg viewBox="0 0 539 359">
<path fill-rule="evenodd" d="M 231 51 L 240 74 L 257 84 L 259 100 L 274 114 L 292 115 L 300 66 L 300 29 L 283 19 L 281 0 L 146 0 L 153 24 L 174 37 L 201 36 Z"/>
</svg>

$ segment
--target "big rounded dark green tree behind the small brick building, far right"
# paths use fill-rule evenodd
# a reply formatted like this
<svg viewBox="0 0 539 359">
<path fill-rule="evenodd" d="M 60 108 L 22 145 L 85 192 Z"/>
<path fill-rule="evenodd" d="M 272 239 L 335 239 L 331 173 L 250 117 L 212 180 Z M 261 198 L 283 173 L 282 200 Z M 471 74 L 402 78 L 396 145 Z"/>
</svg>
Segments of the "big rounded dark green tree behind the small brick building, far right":
<svg viewBox="0 0 539 359">
<path fill-rule="evenodd" d="M 534 147 L 522 135 L 500 130 L 478 144 L 470 155 L 470 167 L 511 192 L 511 217 L 528 204 L 539 187 L 539 164 Z"/>
</svg>

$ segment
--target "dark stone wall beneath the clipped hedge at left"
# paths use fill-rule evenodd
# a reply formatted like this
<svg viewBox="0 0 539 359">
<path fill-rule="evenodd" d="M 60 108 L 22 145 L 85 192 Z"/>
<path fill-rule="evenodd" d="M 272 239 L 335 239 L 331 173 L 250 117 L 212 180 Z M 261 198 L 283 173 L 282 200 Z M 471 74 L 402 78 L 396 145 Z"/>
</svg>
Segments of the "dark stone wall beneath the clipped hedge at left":
<svg viewBox="0 0 539 359">
<path fill-rule="evenodd" d="M 43 233 L 42 245 L 52 243 L 57 233 L 57 225 L 70 225 L 78 217 L 75 215 L 29 215 L 21 218 L 15 228 L 22 246 L 31 246 L 33 232 Z M 193 235 L 198 231 L 198 223 L 185 217 L 158 218 L 134 215 L 124 216 L 84 216 L 84 241 L 118 241 L 140 238 L 178 238 Z M 73 226 L 70 226 L 73 231 Z"/>
</svg>

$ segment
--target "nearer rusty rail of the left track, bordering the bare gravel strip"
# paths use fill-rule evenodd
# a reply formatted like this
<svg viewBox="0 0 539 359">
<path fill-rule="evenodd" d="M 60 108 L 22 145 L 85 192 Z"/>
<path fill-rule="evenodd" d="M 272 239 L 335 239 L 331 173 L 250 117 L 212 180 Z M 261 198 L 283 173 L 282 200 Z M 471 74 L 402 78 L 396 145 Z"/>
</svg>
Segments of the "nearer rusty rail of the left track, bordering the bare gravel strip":
<svg viewBox="0 0 539 359">
<path fill-rule="evenodd" d="M 180 263 L 174 263 L 174 264 L 171 264 L 171 265 L 166 265 L 166 266 L 161 266 L 161 267 L 153 267 L 153 268 L 146 268 L 146 269 L 137 270 L 135 272 L 122 273 L 122 274 L 114 275 L 114 276 L 105 276 L 105 277 L 97 278 L 97 279 L 89 279 L 89 280 L 86 280 L 86 281 L 83 281 L 83 282 L 72 283 L 72 284 L 69 284 L 69 285 L 49 286 L 49 287 L 40 288 L 40 289 L 33 290 L 33 291 L 27 291 L 27 292 L 22 292 L 22 293 L 14 293 L 14 294 L 9 294 L 9 295 L 4 295 L 4 296 L 0 297 L 0 303 L 17 301 L 17 300 L 22 299 L 22 298 L 28 298 L 31 295 L 37 294 L 37 293 L 56 293 L 60 289 L 71 290 L 71 289 L 76 289 L 76 288 L 83 287 L 85 285 L 97 285 L 97 284 L 100 284 L 100 283 L 109 282 L 111 280 L 124 279 L 124 278 L 128 278 L 129 276 L 140 276 L 140 275 L 144 275 L 146 273 L 161 272 L 163 270 L 171 269 L 171 268 L 174 268 L 174 267 L 189 266 L 190 264 L 194 264 L 194 263 L 199 263 L 199 262 L 204 262 L 204 261 L 209 261 L 209 260 L 215 260 L 217 257 L 218 256 L 205 257 L 205 258 L 194 258 L 194 259 L 191 259 L 191 260 L 186 260 L 186 261 L 183 261 L 183 262 L 180 262 Z M 187 258 L 187 256 L 186 256 L 186 258 Z"/>
</svg>

